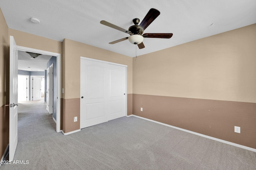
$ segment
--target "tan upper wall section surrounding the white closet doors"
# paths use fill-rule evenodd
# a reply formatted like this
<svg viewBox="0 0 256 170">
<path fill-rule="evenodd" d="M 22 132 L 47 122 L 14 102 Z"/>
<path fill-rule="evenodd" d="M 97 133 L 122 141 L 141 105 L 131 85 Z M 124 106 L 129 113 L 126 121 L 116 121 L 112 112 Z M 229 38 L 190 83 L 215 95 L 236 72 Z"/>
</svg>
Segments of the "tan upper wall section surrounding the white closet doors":
<svg viewBox="0 0 256 170">
<path fill-rule="evenodd" d="M 80 57 L 127 65 L 128 94 L 132 94 L 132 58 L 69 39 L 63 41 L 62 98 L 80 98 Z"/>
</svg>

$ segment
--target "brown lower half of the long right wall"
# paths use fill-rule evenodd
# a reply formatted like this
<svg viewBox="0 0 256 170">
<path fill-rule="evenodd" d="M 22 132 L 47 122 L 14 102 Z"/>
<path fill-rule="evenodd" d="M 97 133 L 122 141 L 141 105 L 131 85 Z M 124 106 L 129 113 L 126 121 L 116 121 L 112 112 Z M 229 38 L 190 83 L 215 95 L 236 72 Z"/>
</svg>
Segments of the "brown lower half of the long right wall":
<svg viewBox="0 0 256 170">
<path fill-rule="evenodd" d="M 134 115 L 256 149 L 256 103 L 132 96 Z"/>
</svg>

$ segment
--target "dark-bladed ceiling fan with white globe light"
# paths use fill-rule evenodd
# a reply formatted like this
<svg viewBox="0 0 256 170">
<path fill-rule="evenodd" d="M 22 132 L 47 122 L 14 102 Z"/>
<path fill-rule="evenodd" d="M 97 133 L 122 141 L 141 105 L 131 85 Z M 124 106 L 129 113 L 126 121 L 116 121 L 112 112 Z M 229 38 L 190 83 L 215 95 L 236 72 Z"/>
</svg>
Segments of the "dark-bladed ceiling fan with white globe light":
<svg viewBox="0 0 256 170">
<path fill-rule="evenodd" d="M 134 18 L 132 20 L 134 25 L 130 26 L 128 30 L 118 27 L 104 20 L 100 21 L 100 23 L 108 27 L 122 31 L 124 33 L 130 34 L 129 37 L 112 41 L 110 42 L 110 44 L 119 43 L 121 41 L 128 39 L 130 43 L 138 45 L 139 49 L 143 49 L 145 48 L 142 42 L 144 38 L 171 38 L 172 37 L 172 33 L 144 33 L 143 34 L 144 30 L 148 27 L 148 25 L 150 25 L 159 15 L 160 15 L 160 12 L 158 10 L 151 8 L 148 11 L 148 14 L 146 14 L 144 19 L 141 21 L 140 25 L 138 25 L 138 23 L 140 22 L 140 19 Z"/>
</svg>

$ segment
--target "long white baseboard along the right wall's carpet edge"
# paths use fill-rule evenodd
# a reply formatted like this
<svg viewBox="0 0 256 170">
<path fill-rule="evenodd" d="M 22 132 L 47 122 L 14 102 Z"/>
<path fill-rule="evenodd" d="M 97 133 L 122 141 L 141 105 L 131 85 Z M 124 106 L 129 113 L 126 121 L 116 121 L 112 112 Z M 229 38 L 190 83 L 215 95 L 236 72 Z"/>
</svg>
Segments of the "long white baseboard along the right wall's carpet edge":
<svg viewBox="0 0 256 170">
<path fill-rule="evenodd" d="M 129 117 L 130 117 L 130 116 L 131 116 L 131 115 L 129 115 Z M 196 133 L 196 132 L 193 132 L 193 131 L 189 131 L 189 130 L 186 130 L 186 129 L 182 129 L 182 128 L 180 128 L 180 127 L 175 127 L 175 126 L 172 126 L 172 125 L 168 125 L 168 124 L 165 124 L 165 123 L 161 123 L 161 122 L 158 122 L 158 121 L 154 121 L 154 120 L 151 120 L 151 119 L 147 119 L 147 118 L 144 118 L 144 117 L 140 117 L 140 116 L 136 116 L 136 115 L 132 115 L 132 116 L 138 117 L 138 118 L 140 118 L 140 119 L 152 121 L 152 122 L 154 122 L 154 123 L 158 123 L 158 124 L 165 125 L 165 126 L 168 126 L 168 127 L 172 127 L 172 128 L 174 128 L 174 129 L 178 129 L 178 130 L 185 131 L 185 132 L 188 132 L 188 133 L 192 133 L 192 134 L 194 134 L 194 135 L 198 135 L 198 136 L 201 136 L 201 137 L 206 137 L 206 138 L 212 139 L 212 140 L 214 140 L 214 141 L 226 143 L 226 144 L 228 144 L 228 145 L 233 145 L 233 146 L 235 146 L 235 147 L 239 147 L 239 148 L 242 148 L 242 149 L 247 149 L 247 150 L 256 152 L 256 149 L 250 148 L 250 147 L 246 147 L 246 146 L 244 146 L 244 145 L 239 145 L 239 144 L 236 144 L 236 143 L 224 141 L 224 140 L 222 140 L 222 139 L 218 139 L 218 138 L 215 138 L 215 137 L 210 137 L 210 136 L 207 136 L 207 135 L 203 135 L 203 134 L 201 134 L 201 133 Z M 127 116 L 127 117 L 128 117 L 128 116 Z"/>
</svg>

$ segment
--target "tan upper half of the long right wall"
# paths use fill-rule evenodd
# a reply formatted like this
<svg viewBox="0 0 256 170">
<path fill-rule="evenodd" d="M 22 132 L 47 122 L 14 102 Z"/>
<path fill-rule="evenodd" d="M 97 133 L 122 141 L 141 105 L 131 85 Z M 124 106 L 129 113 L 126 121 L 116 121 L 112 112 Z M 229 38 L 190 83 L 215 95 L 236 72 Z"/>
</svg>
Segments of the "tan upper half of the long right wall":
<svg viewBox="0 0 256 170">
<path fill-rule="evenodd" d="M 134 58 L 133 93 L 255 103 L 256 24 Z"/>
</svg>

